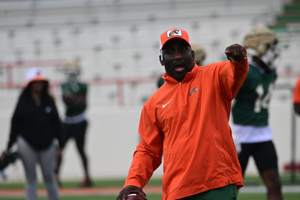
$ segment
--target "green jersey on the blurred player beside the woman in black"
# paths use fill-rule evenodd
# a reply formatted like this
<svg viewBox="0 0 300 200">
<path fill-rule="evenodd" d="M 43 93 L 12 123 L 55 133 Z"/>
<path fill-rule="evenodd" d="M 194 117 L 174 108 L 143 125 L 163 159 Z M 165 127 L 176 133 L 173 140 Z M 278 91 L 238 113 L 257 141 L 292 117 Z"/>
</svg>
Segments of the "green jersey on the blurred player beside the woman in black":
<svg viewBox="0 0 300 200">
<path fill-rule="evenodd" d="M 68 117 L 81 114 L 86 109 L 87 85 L 80 82 L 65 82 L 61 85 L 62 96 Z"/>
</svg>

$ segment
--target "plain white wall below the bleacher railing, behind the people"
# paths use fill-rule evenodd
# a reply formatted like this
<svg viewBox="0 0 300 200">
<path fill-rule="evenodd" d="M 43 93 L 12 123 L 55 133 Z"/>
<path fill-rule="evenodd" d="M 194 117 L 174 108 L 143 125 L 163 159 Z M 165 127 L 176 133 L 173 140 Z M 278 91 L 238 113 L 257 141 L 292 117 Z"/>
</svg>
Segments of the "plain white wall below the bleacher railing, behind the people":
<svg viewBox="0 0 300 200">
<path fill-rule="evenodd" d="M 92 87 L 89 96 L 99 88 Z M 10 128 L 10 116 L 16 103 L 19 91 L 1 91 L 0 115 L 0 148 L 4 149 Z M 89 99 L 87 116 L 89 127 L 86 150 L 90 161 L 93 178 L 125 177 L 131 165 L 132 155 L 139 142 L 138 123 L 143 104 L 126 106 L 96 106 L 97 98 Z M 63 113 L 61 100 L 57 100 L 58 109 Z M 95 106 L 94 106 L 95 105 Z M 274 92 L 270 105 L 270 126 L 274 133 L 274 143 L 279 158 L 279 170 L 283 172 L 284 164 L 290 161 L 291 144 L 291 98 L 288 90 Z M 297 120 L 297 161 L 300 158 L 300 120 Z M 7 168 L 10 181 L 23 180 L 21 162 Z M 257 170 L 250 162 L 247 174 L 256 174 Z M 156 176 L 162 175 L 160 167 Z M 41 176 L 40 176 L 41 177 Z M 76 152 L 75 143 L 69 141 L 64 151 L 64 162 L 61 177 L 63 179 L 79 179 L 83 177 L 82 166 Z"/>
</svg>

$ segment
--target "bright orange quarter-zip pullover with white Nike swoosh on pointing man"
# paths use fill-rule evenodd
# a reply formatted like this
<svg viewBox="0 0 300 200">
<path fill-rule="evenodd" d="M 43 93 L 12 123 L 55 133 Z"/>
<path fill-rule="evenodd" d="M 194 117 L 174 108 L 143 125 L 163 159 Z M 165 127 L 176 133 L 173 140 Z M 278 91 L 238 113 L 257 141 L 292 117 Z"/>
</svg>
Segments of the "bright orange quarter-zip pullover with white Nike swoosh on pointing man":
<svg viewBox="0 0 300 200">
<path fill-rule="evenodd" d="M 246 50 L 245 50 L 246 51 Z M 143 188 L 164 153 L 162 199 L 175 200 L 229 184 L 243 186 L 229 115 L 249 70 L 247 59 L 198 67 L 166 83 L 145 103 L 141 140 L 124 187 Z"/>
</svg>

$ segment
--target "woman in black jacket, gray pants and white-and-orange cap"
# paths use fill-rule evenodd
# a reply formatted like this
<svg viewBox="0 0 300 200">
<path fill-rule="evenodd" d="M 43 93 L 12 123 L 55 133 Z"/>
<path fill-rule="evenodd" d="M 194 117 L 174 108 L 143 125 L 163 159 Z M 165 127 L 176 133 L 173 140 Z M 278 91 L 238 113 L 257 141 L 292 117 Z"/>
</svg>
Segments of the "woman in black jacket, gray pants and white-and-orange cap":
<svg viewBox="0 0 300 200">
<path fill-rule="evenodd" d="M 16 142 L 26 174 L 26 199 L 37 200 L 35 167 L 39 163 L 49 199 L 58 200 L 58 184 L 54 173 L 57 148 L 53 139 L 57 138 L 61 145 L 61 121 L 55 102 L 49 95 L 49 84 L 44 72 L 32 68 L 26 80 L 26 87 L 12 117 L 7 150 L 1 159 Z"/>
</svg>

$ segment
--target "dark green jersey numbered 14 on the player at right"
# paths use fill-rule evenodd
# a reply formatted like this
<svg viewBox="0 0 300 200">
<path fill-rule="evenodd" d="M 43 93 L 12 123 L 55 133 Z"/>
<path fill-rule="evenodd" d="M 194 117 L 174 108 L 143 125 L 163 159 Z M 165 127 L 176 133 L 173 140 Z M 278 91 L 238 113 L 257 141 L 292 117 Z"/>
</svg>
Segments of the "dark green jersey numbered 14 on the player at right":
<svg viewBox="0 0 300 200">
<path fill-rule="evenodd" d="M 268 125 L 268 105 L 274 89 L 276 71 L 264 72 L 256 63 L 249 64 L 249 72 L 232 107 L 234 124 Z"/>
</svg>

